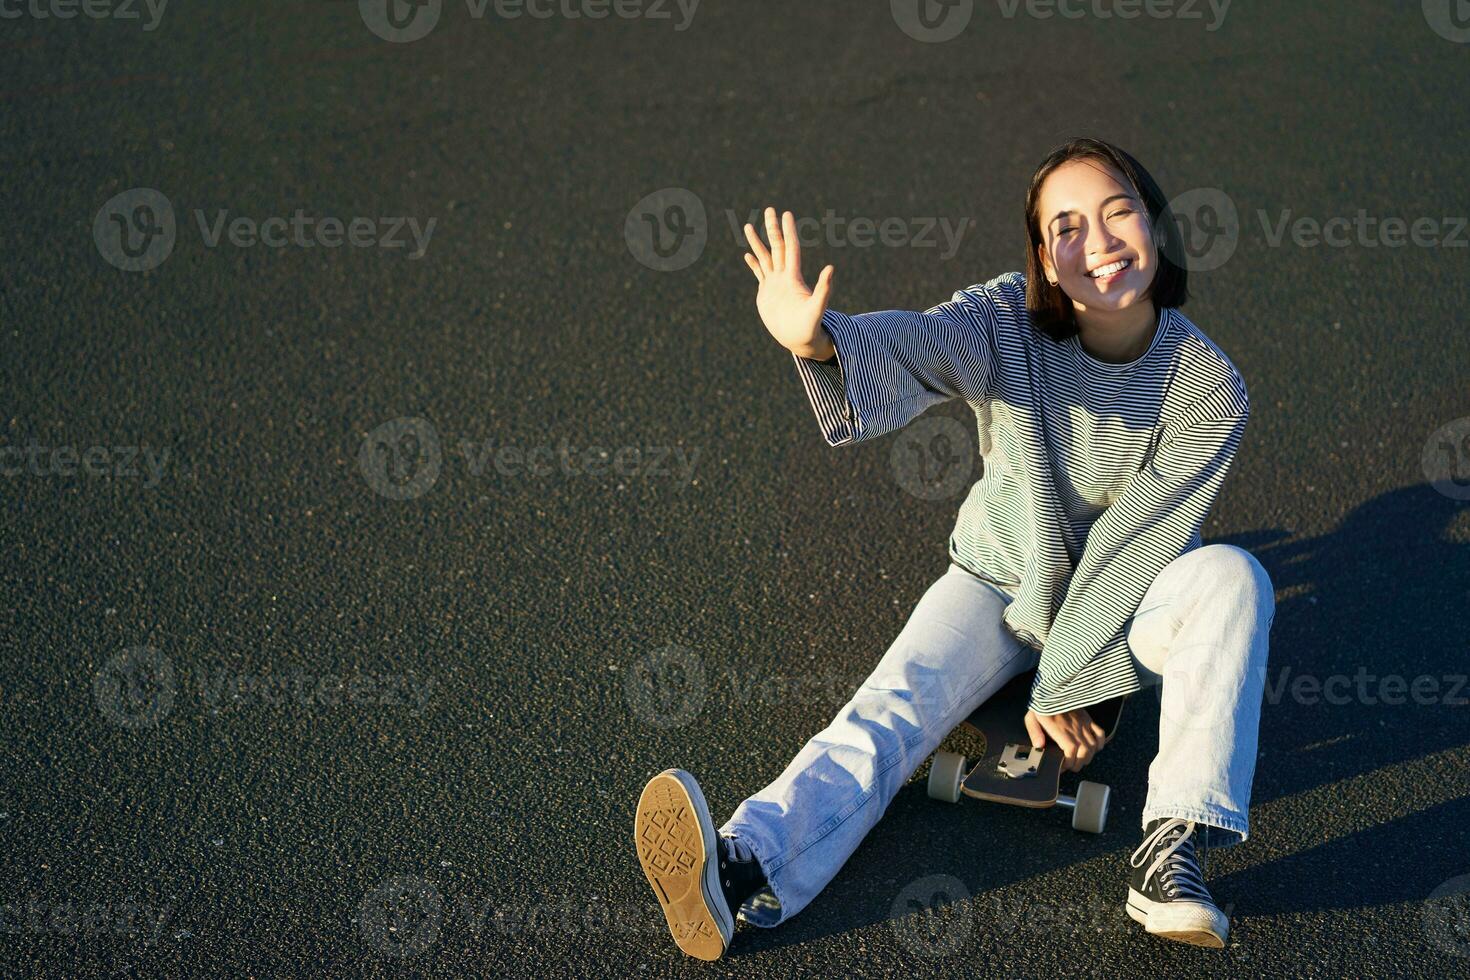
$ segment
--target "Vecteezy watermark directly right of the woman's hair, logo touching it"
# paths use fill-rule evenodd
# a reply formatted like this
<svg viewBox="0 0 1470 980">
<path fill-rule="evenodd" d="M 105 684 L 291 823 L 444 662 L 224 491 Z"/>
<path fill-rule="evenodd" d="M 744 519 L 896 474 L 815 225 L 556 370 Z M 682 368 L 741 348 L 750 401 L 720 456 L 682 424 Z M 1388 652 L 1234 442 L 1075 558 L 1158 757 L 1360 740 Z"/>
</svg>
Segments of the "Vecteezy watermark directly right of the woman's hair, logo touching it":
<svg viewBox="0 0 1470 980">
<path fill-rule="evenodd" d="M 1176 229 L 1164 220 L 1173 216 Z M 1360 207 L 1352 215 L 1317 217 L 1298 215 L 1285 207 L 1274 215 L 1255 209 L 1260 223 L 1258 244 L 1282 248 L 1466 248 L 1470 247 L 1467 216 L 1377 216 Z M 1169 201 L 1169 212 L 1160 216 L 1155 238 L 1172 235 L 1176 250 L 1167 253 L 1191 272 L 1219 269 L 1235 254 L 1244 226 L 1239 210 L 1229 194 L 1217 187 L 1198 187 Z"/>
</svg>

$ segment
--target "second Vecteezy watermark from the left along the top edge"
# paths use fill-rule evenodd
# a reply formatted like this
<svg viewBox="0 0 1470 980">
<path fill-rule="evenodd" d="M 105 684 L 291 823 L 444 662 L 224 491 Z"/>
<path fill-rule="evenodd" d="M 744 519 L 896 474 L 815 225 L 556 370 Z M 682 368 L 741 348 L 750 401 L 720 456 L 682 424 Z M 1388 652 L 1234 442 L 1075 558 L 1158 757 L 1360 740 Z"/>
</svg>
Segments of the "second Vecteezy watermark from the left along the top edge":
<svg viewBox="0 0 1470 980">
<path fill-rule="evenodd" d="M 473 21 L 678 21 L 675 31 L 688 31 L 700 0 L 465 0 Z M 357 0 L 368 29 L 384 41 L 407 44 L 428 37 L 440 24 L 444 0 Z"/>
</svg>

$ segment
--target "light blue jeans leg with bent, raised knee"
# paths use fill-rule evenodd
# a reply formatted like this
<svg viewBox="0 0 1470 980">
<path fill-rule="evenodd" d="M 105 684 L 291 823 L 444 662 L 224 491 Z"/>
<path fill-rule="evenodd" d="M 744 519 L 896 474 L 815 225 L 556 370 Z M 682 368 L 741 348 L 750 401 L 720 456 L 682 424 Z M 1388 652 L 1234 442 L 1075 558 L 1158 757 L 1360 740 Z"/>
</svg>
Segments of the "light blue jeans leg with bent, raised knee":
<svg viewBox="0 0 1470 980">
<path fill-rule="evenodd" d="M 1158 755 L 1148 767 L 1144 826 L 1207 824 L 1210 846 L 1250 836 L 1251 780 L 1276 594 L 1255 557 L 1205 545 L 1170 561 L 1127 627 L 1145 685 L 1161 685 Z"/>
</svg>

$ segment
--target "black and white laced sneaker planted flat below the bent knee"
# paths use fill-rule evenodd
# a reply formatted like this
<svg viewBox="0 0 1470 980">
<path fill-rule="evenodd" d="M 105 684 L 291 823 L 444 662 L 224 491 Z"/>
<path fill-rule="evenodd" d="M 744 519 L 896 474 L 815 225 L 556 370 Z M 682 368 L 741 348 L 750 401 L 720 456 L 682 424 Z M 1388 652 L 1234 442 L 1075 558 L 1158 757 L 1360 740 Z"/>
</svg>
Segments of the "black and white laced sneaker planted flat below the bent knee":
<svg viewBox="0 0 1470 980">
<path fill-rule="evenodd" d="M 1154 936 L 1223 949 L 1230 920 L 1204 886 L 1204 827 L 1160 817 L 1129 864 L 1127 914 Z"/>
</svg>

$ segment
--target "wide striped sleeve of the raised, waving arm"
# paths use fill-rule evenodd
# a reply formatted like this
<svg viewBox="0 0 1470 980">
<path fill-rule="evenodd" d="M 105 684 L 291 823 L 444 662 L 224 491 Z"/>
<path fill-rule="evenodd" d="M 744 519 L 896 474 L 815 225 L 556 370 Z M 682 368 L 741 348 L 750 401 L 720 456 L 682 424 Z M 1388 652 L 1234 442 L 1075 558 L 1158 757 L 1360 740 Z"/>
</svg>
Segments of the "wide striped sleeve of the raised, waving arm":
<svg viewBox="0 0 1470 980">
<path fill-rule="evenodd" d="M 792 359 L 828 445 L 900 429 L 948 398 L 991 397 L 995 307 L 982 287 L 925 313 L 822 314 L 836 363 Z"/>
</svg>

